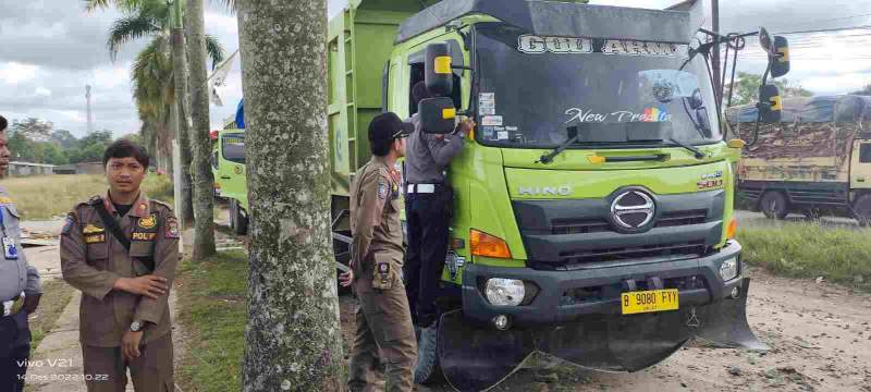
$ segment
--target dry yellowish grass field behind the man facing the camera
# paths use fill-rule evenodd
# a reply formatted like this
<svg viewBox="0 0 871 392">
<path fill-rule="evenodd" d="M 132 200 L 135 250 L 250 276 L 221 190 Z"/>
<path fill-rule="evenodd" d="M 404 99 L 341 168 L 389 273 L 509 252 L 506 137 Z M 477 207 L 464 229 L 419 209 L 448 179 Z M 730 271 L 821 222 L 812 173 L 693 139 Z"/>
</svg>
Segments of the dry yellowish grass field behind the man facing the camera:
<svg viewBox="0 0 871 392">
<path fill-rule="evenodd" d="M 38 220 L 63 217 L 77 203 L 106 193 L 102 174 L 40 175 L 9 177 L 0 181 L 12 195 L 22 219 Z M 165 175 L 148 174 L 143 182 L 148 197 L 172 205 L 172 181 Z"/>
</svg>

